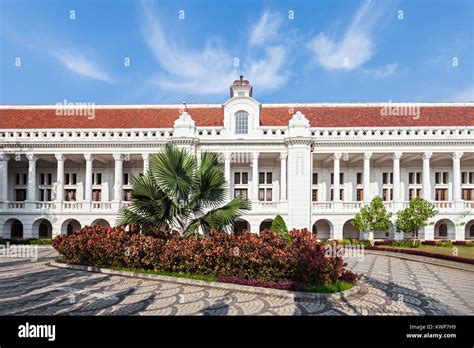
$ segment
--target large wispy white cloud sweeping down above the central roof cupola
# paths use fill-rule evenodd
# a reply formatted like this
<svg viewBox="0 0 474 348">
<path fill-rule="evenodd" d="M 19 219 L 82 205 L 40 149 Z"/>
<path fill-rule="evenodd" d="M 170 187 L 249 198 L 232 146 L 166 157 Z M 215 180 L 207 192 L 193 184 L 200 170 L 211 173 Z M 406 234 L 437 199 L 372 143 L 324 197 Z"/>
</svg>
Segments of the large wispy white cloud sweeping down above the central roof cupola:
<svg viewBox="0 0 474 348">
<path fill-rule="evenodd" d="M 218 44 L 207 44 L 202 51 L 179 46 L 172 33 L 163 32 L 149 3 L 142 2 L 142 5 L 145 41 L 162 68 L 162 72 L 153 78 L 154 83 L 185 93 L 220 94 L 238 78 L 240 71 L 234 67 L 235 57 L 228 50 Z M 260 19 L 259 23 L 265 21 Z M 266 38 L 259 36 L 258 40 L 265 41 Z M 254 42 L 263 42 L 258 40 Z M 245 77 L 260 91 L 278 88 L 286 80 L 286 74 L 282 72 L 287 57 L 285 48 L 264 47 L 264 50 L 263 58 L 249 57 L 248 64 L 244 57 L 239 57 Z"/>
</svg>

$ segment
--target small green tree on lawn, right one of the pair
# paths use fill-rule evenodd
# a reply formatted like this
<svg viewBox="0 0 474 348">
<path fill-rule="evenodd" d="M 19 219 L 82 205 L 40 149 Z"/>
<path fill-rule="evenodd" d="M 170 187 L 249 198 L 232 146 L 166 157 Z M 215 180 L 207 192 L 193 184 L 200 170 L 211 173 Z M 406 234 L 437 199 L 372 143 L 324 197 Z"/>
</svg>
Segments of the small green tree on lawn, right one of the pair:
<svg viewBox="0 0 474 348">
<path fill-rule="evenodd" d="M 415 246 L 420 228 L 428 226 L 428 219 L 435 217 L 437 214 L 438 211 L 433 203 L 421 197 L 416 197 L 410 201 L 407 208 L 398 212 L 397 230 L 411 233 L 413 235 L 413 246 Z"/>
</svg>

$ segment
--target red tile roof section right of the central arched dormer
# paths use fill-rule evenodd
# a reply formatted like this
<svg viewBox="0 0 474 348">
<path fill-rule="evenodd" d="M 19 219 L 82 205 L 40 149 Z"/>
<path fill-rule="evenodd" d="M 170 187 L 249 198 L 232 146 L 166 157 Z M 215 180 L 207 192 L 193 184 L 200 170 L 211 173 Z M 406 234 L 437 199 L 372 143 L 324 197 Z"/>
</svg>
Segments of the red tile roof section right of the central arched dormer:
<svg viewBox="0 0 474 348">
<path fill-rule="evenodd" d="M 392 106 L 393 107 L 393 106 Z M 383 116 L 381 106 L 262 108 L 262 126 L 285 126 L 297 111 L 312 127 L 474 126 L 474 106 L 423 106 L 420 117 Z"/>
</svg>

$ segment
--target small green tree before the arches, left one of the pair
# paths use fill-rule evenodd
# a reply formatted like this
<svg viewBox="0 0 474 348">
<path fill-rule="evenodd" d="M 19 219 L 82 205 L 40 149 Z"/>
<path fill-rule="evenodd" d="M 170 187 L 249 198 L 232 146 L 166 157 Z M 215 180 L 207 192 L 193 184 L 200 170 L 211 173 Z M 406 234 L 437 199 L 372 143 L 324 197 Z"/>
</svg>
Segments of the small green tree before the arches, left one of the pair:
<svg viewBox="0 0 474 348">
<path fill-rule="evenodd" d="M 389 232 L 392 226 L 391 217 L 392 213 L 387 212 L 383 199 L 376 196 L 355 215 L 352 225 L 366 234 L 374 231 Z"/>
</svg>

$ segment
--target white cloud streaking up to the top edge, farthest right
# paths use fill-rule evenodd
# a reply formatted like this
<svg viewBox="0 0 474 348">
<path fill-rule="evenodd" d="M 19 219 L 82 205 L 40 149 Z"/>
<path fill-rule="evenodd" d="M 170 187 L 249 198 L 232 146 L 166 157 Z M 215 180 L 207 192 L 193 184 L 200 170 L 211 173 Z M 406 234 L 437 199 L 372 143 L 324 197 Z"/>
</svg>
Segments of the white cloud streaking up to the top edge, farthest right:
<svg viewBox="0 0 474 348">
<path fill-rule="evenodd" d="M 372 32 L 386 8 L 366 1 L 356 12 L 351 25 L 340 40 L 320 33 L 310 40 L 307 47 L 314 61 L 328 70 L 353 70 L 366 63 L 375 53 Z"/>
</svg>

